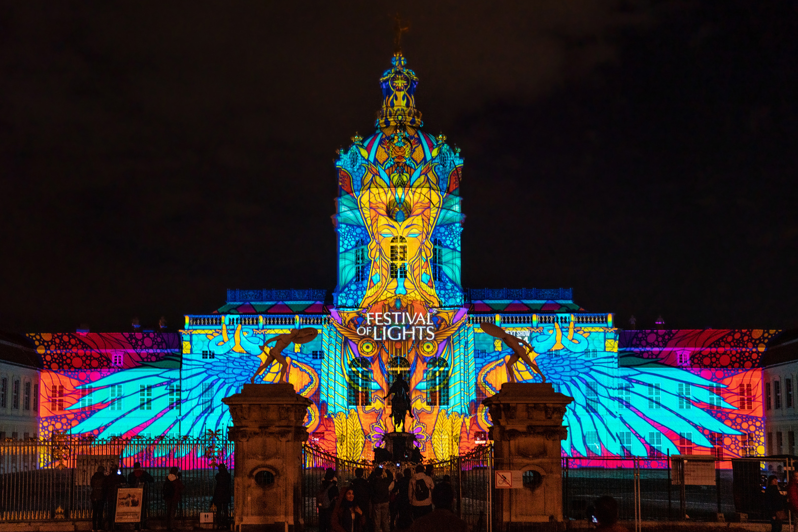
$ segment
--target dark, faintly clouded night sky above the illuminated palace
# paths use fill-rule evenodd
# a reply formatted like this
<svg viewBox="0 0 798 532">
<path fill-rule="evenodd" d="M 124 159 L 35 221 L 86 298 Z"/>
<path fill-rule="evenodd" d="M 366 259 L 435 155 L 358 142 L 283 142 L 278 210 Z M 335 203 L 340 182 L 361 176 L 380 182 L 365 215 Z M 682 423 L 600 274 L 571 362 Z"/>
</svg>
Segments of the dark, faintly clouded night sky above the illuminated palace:
<svg viewBox="0 0 798 532">
<path fill-rule="evenodd" d="M 0 329 L 333 289 L 335 151 L 373 131 L 397 6 L 465 160 L 464 286 L 798 325 L 796 2 L 4 2 Z"/>
</svg>

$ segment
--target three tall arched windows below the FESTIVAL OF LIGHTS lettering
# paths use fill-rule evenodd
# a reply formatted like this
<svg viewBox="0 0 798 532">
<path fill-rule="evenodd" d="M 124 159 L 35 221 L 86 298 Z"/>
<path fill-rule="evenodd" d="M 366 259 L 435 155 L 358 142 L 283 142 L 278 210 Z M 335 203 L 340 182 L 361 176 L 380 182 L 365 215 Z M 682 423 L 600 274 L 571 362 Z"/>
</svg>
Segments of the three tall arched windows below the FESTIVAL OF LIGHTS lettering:
<svg viewBox="0 0 798 532">
<path fill-rule="evenodd" d="M 409 380 L 410 362 L 405 357 L 393 357 L 388 361 L 388 385 L 393 384 L 397 375 Z M 449 372 L 448 362 L 444 358 L 435 357 L 427 361 L 424 372 L 427 384 L 427 404 L 429 406 L 448 407 L 449 404 Z M 351 407 L 369 406 L 371 404 L 373 376 L 371 362 L 364 357 L 350 362 L 346 372 L 346 403 Z"/>
</svg>

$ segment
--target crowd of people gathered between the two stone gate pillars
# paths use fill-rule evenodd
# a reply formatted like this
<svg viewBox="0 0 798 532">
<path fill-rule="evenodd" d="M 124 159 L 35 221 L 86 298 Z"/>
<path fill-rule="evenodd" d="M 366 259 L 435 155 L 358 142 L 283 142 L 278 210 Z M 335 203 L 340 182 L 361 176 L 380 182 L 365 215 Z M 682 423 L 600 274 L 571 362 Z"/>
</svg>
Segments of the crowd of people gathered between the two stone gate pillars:
<svg viewBox="0 0 798 532">
<path fill-rule="evenodd" d="M 432 466 L 407 468 L 394 478 L 393 471 L 374 467 L 368 478 L 355 470 L 355 478 L 339 487 L 335 470 L 326 470 L 316 494 L 319 532 L 391 532 L 443 526 L 456 532 L 468 525 L 452 513 L 454 490 L 448 475 L 439 483 Z"/>
</svg>

